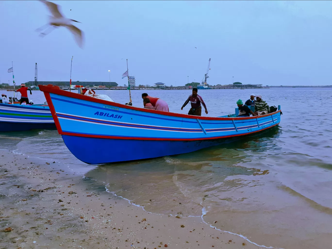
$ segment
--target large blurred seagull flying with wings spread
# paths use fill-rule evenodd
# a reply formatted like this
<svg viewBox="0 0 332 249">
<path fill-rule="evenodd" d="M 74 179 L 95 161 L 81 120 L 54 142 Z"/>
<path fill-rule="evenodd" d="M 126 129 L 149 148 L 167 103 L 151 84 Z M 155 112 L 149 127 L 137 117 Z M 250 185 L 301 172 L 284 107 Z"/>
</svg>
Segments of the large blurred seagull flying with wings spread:
<svg viewBox="0 0 332 249">
<path fill-rule="evenodd" d="M 82 48 L 83 32 L 71 24 L 71 22 L 76 22 L 76 23 L 80 22 L 64 17 L 59 11 L 60 7 L 59 5 L 49 1 L 44 1 L 44 0 L 40 1 L 47 6 L 48 10 L 52 14 L 52 16 L 49 16 L 49 23 L 36 30 L 37 32 L 41 32 L 42 30 L 44 30 L 43 32 L 40 33 L 40 36 L 44 37 L 49 33 L 51 33 L 55 28 L 59 28 L 62 26 L 67 28 L 74 35 L 76 43 L 78 44 L 79 47 Z M 46 27 L 48 28 L 45 30 Z"/>
</svg>

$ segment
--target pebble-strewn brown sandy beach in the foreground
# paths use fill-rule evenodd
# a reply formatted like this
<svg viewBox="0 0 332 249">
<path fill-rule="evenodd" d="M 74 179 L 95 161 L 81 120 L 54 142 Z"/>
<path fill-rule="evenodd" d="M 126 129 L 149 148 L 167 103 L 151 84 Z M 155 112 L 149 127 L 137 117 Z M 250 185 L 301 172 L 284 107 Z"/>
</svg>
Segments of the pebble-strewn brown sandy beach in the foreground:
<svg viewBox="0 0 332 249">
<path fill-rule="evenodd" d="M 87 186 L 65 165 L 0 150 L 0 248 L 262 248 Z"/>
</svg>

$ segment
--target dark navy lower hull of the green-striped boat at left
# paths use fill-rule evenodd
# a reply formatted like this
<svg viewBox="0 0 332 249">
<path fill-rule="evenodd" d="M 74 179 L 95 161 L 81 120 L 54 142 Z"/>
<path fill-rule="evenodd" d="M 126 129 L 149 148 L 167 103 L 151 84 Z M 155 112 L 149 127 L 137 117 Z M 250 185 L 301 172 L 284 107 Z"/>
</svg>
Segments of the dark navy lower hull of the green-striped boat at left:
<svg viewBox="0 0 332 249">
<path fill-rule="evenodd" d="M 32 129 L 56 129 L 54 123 L 14 123 L 0 122 L 0 132 L 4 131 L 25 131 Z"/>
</svg>

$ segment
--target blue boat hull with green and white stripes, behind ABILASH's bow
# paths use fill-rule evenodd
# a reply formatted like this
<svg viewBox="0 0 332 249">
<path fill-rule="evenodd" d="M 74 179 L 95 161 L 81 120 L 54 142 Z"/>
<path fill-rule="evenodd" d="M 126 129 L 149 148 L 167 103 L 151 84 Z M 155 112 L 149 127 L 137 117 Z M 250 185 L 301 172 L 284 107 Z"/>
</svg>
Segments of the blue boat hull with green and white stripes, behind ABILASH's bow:
<svg viewBox="0 0 332 249">
<path fill-rule="evenodd" d="M 48 106 L 0 103 L 0 132 L 55 129 Z"/>
</svg>

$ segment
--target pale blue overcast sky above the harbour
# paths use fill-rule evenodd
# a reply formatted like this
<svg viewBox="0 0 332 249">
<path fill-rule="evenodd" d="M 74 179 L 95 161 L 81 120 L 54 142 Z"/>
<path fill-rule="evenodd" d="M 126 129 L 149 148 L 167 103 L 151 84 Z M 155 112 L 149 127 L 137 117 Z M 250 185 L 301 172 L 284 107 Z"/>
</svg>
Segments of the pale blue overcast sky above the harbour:
<svg viewBox="0 0 332 249">
<path fill-rule="evenodd" d="M 136 85 L 208 83 L 332 85 L 331 1 L 54 1 L 82 23 L 83 49 L 59 28 L 44 38 L 39 1 L 0 1 L 0 77 L 16 83 L 111 81 Z M 70 11 L 71 9 L 71 11 Z M 197 48 L 195 48 L 197 47 Z M 176 83 L 175 83 L 176 81 Z"/>
</svg>

